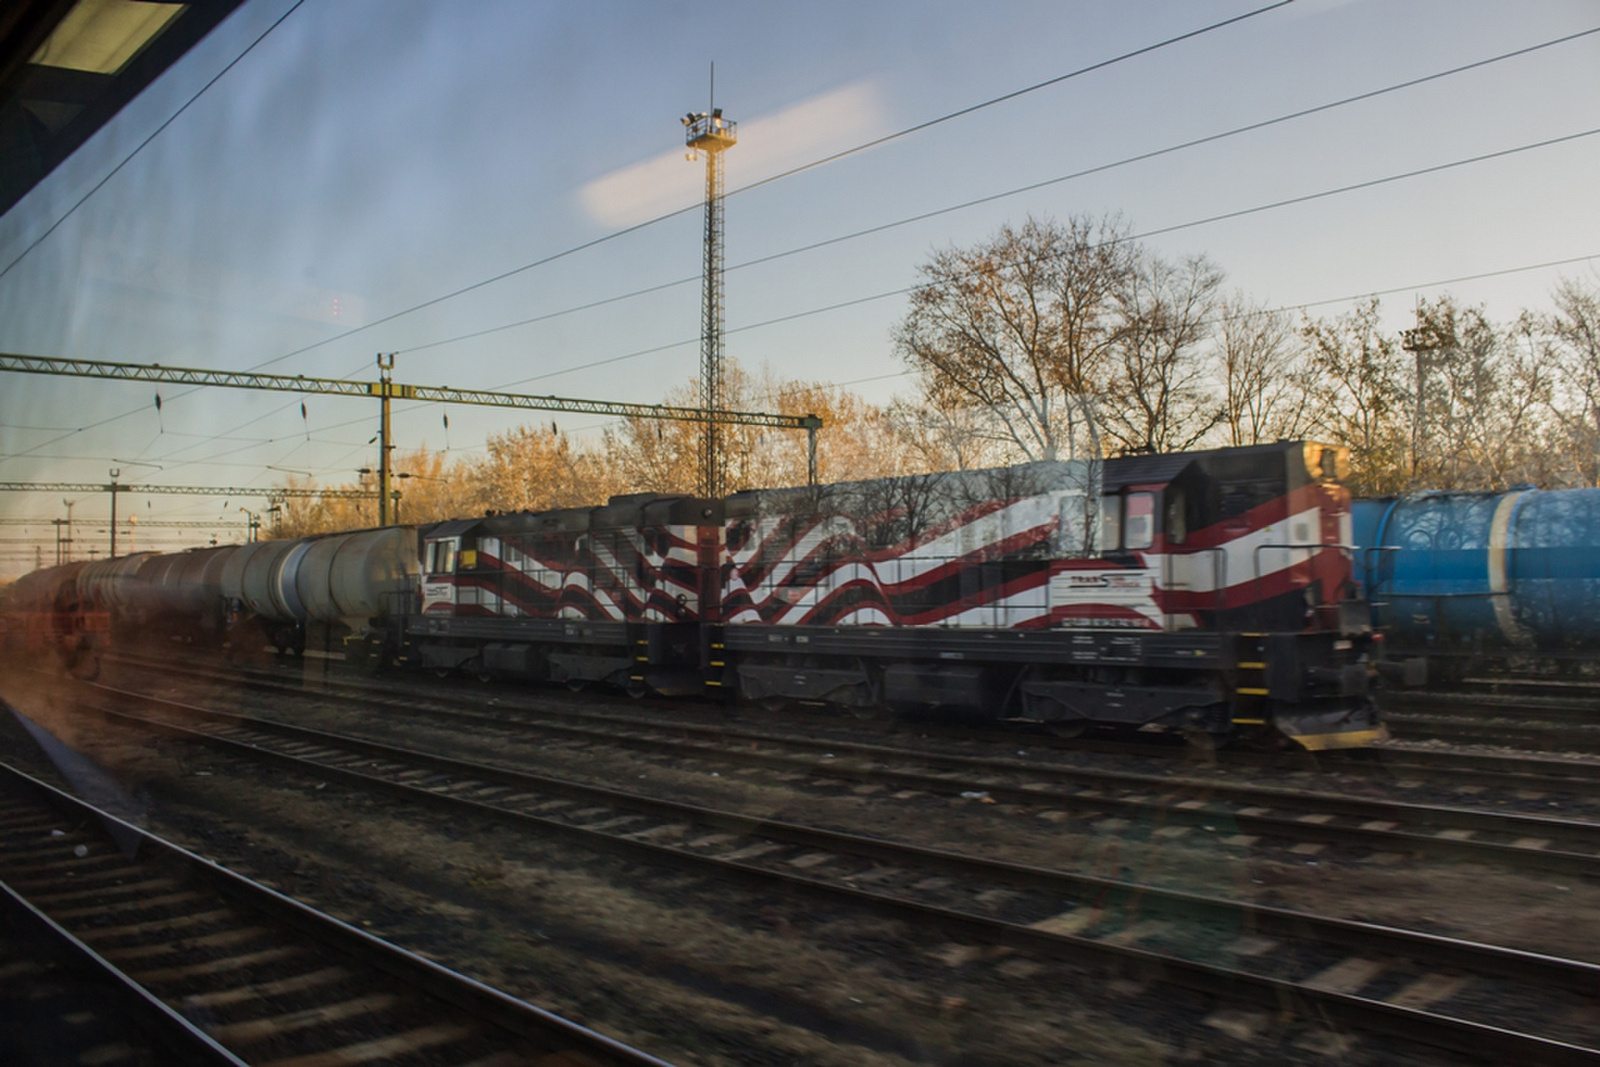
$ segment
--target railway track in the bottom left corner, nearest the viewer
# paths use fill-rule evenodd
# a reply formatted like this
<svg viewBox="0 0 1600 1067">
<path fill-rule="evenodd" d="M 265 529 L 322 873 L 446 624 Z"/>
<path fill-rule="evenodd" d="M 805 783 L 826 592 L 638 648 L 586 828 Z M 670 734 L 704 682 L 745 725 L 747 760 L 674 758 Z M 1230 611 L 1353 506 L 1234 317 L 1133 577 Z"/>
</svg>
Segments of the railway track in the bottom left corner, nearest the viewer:
<svg viewBox="0 0 1600 1067">
<path fill-rule="evenodd" d="M 160 1062 L 664 1067 L 0 763 L 13 913 L 158 1027 Z"/>
</svg>

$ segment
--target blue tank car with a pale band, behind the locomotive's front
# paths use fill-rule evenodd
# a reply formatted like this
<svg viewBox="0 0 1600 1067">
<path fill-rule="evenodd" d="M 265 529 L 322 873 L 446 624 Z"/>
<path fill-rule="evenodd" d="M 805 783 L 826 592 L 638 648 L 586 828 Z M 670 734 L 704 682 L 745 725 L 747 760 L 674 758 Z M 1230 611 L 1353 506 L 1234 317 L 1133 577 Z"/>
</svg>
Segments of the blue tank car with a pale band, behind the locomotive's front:
<svg viewBox="0 0 1600 1067">
<path fill-rule="evenodd" d="M 1600 659 L 1600 490 L 1357 501 L 1355 574 L 1390 656 Z"/>
</svg>

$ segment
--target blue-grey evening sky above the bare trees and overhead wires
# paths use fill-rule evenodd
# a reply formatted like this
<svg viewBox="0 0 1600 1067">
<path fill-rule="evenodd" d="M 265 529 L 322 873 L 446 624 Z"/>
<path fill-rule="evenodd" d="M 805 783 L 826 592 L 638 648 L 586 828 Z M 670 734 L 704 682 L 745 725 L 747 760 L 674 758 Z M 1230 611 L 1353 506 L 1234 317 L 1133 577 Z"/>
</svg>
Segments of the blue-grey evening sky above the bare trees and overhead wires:
<svg viewBox="0 0 1600 1067">
<path fill-rule="evenodd" d="M 395 352 L 402 382 L 659 402 L 699 365 L 704 165 L 678 118 L 712 64 L 739 123 L 726 355 L 872 402 L 909 392 L 891 336 L 918 264 L 1029 216 L 1120 214 L 1296 314 L 1381 293 L 1390 328 L 1446 290 L 1504 322 L 1600 285 L 1600 32 L 1550 43 L 1600 5 L 1269 6 L 248 0 L 0 216 L 0 350 L 352 379 Z M 445 414 L 397 403 L 397 446 L 606 426 Z M 376 426 L 368 400 L 0 374 L 0 482 L 341 485 Z M 0 518 L 64 514 L 0 493 Z M 54 531 L 0 526 L 0 576 L 32 566 L 26 536 Z"/>
</svg>

